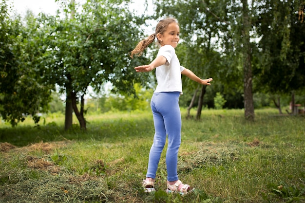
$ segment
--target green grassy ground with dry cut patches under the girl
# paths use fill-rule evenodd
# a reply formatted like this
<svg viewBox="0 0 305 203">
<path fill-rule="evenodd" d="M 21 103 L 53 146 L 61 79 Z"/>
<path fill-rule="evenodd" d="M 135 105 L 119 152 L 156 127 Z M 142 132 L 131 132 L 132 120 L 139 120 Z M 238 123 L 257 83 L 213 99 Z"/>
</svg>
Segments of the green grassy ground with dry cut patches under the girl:
<svg viewBox="0 0 305 203">
<path fill-rule="evenodd" d="M 149 111 L 87 116 L 85 132 L 64 131 L 54 115 L 39 127 L 0 124 L 0 202 L 304 203 L 305 117 L 255 113 L 247 122 L 242 110 L 204 110 L 196 121 L 182 110 L 178 174 L 196 188 L 185 196 L 165 193 L 165 150 L 157 191 L 141 188 L 154 133 Z"/>
</svg>

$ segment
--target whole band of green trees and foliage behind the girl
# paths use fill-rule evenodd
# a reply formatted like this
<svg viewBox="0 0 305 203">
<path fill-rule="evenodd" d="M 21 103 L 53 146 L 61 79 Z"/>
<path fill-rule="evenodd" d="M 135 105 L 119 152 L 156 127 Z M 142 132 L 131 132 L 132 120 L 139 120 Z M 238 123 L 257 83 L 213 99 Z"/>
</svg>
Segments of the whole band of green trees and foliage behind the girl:
<svg viewBox="0 0 305 203">
<path fill-rule="evenodd" d="M 133 67 L 149 63 L 157 47 L 133 60 L 128 53 L 166 16 L 180 24 L 181 64 L 214 79 L 207 88 L 182 78 L 180 104 L 195 107 L 197 119 L 203 108 L 244 109 L 254 119 L 255 108 L 305 106 L 304 0 L 143 1 L 152 14 L 131 9 L 130 0 L 56 2 L 55 16 L 24 17 L 0 3 L 0 114 L 12 126 L 61 111 L 65 129 L 73 112 L 86 129 L 87 112 L 148 109 L 154 73 Z"/>
</svg>

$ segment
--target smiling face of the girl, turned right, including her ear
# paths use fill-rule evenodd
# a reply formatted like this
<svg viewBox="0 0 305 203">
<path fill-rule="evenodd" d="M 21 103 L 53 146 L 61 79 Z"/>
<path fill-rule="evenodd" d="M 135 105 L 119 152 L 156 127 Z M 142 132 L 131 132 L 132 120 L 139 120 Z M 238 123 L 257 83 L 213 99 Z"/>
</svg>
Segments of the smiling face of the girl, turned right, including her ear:
<svg viewBox="0 0 305 203">
<path fill-rule="evenodd" d="M 161 43 L 161 46 L 171 45 L 173 48 L 176 48 L 179 42 L 180 29 L 177 23 L 171 23 L 167 27 L 166 31 L 163 34 L 158 34 L 157 37 Z"/>
</svg>

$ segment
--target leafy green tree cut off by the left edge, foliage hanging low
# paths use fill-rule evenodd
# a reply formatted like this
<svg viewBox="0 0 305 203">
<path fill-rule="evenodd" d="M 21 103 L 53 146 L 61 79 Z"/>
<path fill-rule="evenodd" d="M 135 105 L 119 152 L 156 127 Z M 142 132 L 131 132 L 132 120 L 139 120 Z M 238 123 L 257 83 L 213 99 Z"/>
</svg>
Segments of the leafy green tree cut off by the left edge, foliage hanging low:
<svg viewBox="0 0 305 203">
<path fill-rule="evenodd" d="M 38 123 L 38 112 L 47 111 L 52 85 L 44 83 L 38 56 L 40 25 L 32 13 L 24 19 L 11 18 L 6 1 L 0 3 L 0 114 L 16 126 L 27 115 Z"/>
</svg>

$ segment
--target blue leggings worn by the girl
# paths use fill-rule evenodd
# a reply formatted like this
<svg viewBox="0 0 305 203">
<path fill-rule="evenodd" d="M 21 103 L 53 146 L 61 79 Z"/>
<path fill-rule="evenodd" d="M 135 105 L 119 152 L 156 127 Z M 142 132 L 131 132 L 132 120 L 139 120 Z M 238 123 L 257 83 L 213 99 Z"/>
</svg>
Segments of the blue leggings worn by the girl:
<svg viewBox="0 0 305 203">
<path fill-rule="evenodd" d="M 167 166 L 167 180 L 178 180 L 178 150 L 181 144 L 179 96 L 180 92 L 155 92 L 152 95 L 151 108 L 155 133 L 149 154 L 146 177 L 155 179 L 167 135 L 168 147 L 165 160 Z"/>
</svg>

